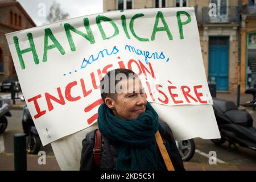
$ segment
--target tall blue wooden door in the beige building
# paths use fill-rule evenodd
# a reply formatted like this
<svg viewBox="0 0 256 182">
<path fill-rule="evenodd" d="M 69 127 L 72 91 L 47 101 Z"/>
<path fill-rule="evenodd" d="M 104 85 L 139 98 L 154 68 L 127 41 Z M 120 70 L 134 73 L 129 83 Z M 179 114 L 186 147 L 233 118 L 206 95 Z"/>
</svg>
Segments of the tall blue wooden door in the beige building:
<svg viewBox="0 0 256 182">
<path fill-rule="evenodd" d="M 229 90 L 229 38 L 209 38 L 209 80 L 217 84 L 217 91 Z"/>
</svg>

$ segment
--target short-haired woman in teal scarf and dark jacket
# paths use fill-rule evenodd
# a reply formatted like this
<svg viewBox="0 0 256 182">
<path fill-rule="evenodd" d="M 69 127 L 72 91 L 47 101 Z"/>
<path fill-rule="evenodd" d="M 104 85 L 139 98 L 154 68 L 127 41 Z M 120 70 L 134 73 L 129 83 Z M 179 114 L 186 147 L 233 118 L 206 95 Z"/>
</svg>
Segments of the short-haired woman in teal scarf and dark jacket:
<svg viewBox="0 0 256 182">
<path fill-rule="evenodd" d="M 175 170 L 185 170 L 170 127 L 159 121 L 133 71 L 108 72 L 101 80 L 101 97 L 104 103 L 98 109 L 98 129 L 102 134 L 100 166 L 94 162 L 94 130 L 82 140 L 80 170 L 166 170 L 155 140 L 158 130 Z"/>
</svg>

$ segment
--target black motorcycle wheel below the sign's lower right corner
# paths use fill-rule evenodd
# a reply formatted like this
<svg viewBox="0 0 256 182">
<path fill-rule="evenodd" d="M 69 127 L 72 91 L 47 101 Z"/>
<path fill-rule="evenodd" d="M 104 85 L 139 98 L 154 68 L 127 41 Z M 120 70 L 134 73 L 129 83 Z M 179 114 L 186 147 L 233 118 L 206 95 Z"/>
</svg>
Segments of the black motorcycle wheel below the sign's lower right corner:
<svg viewBox="0 0 256 182">
<path fill-rule="evenodd" d="M 196 151 L 196 145 L 193 139 L 188 140 L 181 140 L 181 141 L 175 141 L 176 146 L 180 152 L 180 156 L 183 161 L 189 161 L 193 158 L 195 151 Z"/>
</svg>

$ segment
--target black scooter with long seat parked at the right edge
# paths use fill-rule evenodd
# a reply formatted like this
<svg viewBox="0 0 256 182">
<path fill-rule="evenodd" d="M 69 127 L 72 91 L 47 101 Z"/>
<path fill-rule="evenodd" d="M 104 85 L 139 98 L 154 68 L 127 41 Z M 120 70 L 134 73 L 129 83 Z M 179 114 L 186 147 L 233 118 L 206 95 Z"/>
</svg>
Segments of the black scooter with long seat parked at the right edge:
<svg viewBox="0 0 256 182">
<path fill-rule="evenodd" d="M 237 149 L 241 147 L 256 150 L 256 129 L 253 127 L 253 118 L 247 111 L 238 110 L 232 101 L 213 97 L 213 110 L 220 130 L 220 139 L 212 139 L 212 142 L 221 145 L 225 141 Z"/>
</svg>

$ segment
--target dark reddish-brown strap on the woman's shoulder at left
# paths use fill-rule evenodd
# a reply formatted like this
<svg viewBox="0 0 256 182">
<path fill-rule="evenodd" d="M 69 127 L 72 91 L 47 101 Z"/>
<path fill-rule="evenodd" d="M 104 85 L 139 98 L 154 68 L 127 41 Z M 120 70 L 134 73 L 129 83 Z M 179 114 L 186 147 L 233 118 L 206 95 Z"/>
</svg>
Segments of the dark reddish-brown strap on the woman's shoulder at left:
<svg viewBox="0 0 256 182">
<path fill-rule="evenodd" d="M 98 129 L 96 130 L 96 134 L 95 134 L 93 155 L 94 155 L 94 163 L 100 169 L 100 163 L 101 163 L 101 133 L 100 133 L 100 130 L 98 130 Z"/>
</svg>

